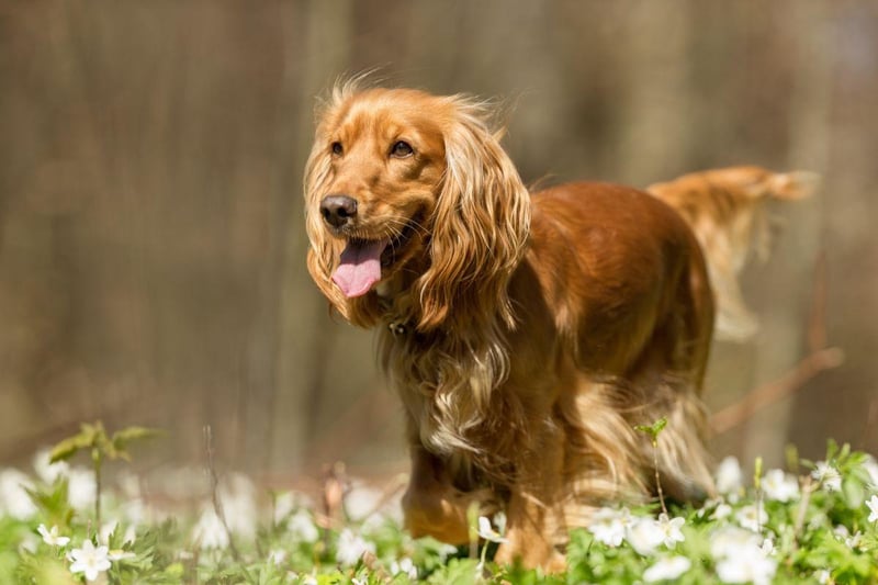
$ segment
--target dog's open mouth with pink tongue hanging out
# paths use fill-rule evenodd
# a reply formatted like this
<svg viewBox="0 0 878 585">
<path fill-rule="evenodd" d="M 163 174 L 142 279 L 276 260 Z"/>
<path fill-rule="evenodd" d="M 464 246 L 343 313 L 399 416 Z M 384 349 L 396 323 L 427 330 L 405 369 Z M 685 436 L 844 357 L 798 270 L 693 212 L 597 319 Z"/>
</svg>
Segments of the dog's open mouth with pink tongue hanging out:
<svg viewBox="0 0 878 585">
<path fill-rule="evenodd" d="M 349 237 L 333 282 L 349 299 L 368 293 L 381 280 L 381 271 L 397 263 L 418 225 L 416 216 L 391 237 Z"/>
</svg>

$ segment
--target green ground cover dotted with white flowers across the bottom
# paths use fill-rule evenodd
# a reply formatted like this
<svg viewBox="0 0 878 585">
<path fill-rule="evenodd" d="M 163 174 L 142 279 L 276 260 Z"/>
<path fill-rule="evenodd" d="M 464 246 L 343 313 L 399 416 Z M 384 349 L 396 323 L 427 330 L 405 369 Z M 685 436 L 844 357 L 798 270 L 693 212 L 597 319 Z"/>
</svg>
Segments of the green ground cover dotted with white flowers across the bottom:
<svg viewBox="0 0 878 585">
<path fill-rule="evenodd" d="M 0 583 L 878 582 L 878 464 L 833 442 L 824 461 L 792 457 L 791 469 L 765 473 L 757 464 L 746 480 L 729 459 L 718 470 L 723 495 L 700 507 L 603 508 L 571 533 L 567 572 L 543 575 L 489 560 L 502 518 L 488 529 L 474 516 L 487 540 L 472 550 L 413 540 L 398 503 L 381 506 L 359 484 L 334 520 L 302 494 L 263 493 L 213 469 L 171 482 L 190 486 L 189 505 L 147 499 L 143 479 L 102 485 L 101 465 L 151 431 L 91 425 L 80 435 L 59 443 L 54 464 L 41 453 L 32 471 L 0 471 Z M 91 469 L 66 462 L 81 454 Z"/>
</svg>

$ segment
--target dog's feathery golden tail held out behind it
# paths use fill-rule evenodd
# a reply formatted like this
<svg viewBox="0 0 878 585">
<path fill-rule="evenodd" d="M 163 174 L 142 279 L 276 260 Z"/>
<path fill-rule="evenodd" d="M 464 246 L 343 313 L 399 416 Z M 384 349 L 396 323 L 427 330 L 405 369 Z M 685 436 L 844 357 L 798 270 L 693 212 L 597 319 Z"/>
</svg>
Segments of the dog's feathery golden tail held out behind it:
<svg viewBox="0 0 878 585">
<path fill-rule="evenodd" d="M 701 244 L 717 297 L 717 339 L 744 341 L 758 330 L 758 319 L 744 304 L 738 277 L 751 258 L 768 259 L 777 225 L 770 214 L 772 202 L 807 198 L 819 183 L 820 176 L 809 171 L 730 167 L 646 188 L 686 220 Z"/>
</svg>

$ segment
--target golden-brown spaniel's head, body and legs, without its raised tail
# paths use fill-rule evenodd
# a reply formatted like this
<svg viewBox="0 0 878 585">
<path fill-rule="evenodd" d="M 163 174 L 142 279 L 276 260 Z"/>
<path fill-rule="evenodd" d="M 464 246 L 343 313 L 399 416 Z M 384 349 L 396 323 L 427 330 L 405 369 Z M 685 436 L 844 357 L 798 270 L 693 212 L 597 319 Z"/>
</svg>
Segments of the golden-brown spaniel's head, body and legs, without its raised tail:
<svg viewBox="0 0 878 585">
<path fill-rule="evenodd" d="M 335 87 L 305 169 L 307 267 L 348 322 L 379 330 L 410 533 L 459 544 L 471 505 L 503 510 L 495 560 L 560 571 L 597 506 L 654 493 L 654 455 L 669 496 L 713 493 L 699 395 L 714 294 L 669 189 L 531 194 L 491 114 Z M 654 453 L 633 427 L 660 417 Z"/>
</svg>

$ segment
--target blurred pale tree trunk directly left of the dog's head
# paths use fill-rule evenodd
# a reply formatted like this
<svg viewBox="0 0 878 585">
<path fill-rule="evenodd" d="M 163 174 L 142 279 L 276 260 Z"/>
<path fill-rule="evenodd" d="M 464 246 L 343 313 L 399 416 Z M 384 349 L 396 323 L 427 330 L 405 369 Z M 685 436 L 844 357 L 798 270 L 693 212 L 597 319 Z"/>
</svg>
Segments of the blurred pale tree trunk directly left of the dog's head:
<svg viewBox="0 0 878 585">
<path fill-rule="evenodd" d="M 307 238 L 304 232 L 302 182 L 304 162 L 311 149 L 314 128 L 315 97 L 325 91 L 334 78 L 326 72 L 346 71 L 350 61 L 352 38 L 352 0 L 312 0 L 300 12 L 295 32 L 290 31 L 288 42 L 300 37 L 299 45 L 307 59 L 300 59 L 288 48 L 286 55 L 296 59 L 299 76 L 299 117 L 294 125 L 297 136 L 289 136 L 294 144 L 290 161 L 291 175 L 296 180 L 286 195 L 293 204 L 288 207 L 282 226 L 285 234 L 281 267 L 281 295 L 279 299 L 279 333 L 275 353 L 277 398 L 271 413 L 271 469 L 299 470 L 306 459 L 305 449 L 311 443 L 324 385 L 323 372 L 328 365 L 330 336 L 334 328 L 326 326 L 327 303 L 317 293 L 305 270 Z"/>
</svg>

